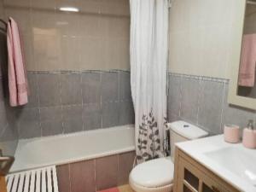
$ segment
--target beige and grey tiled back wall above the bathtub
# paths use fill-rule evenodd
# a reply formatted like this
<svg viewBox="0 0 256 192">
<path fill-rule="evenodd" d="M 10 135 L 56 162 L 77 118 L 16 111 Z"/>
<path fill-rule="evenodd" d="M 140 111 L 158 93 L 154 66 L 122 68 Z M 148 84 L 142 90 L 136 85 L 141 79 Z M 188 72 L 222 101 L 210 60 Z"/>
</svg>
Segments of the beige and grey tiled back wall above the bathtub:
<svg viewBox="0 0 256 192">
<path fill-rule="evenodd" d="M 31 96 L 15 109 L 20 138 L 133 123 L 129 0 L 1 2 L 26 50 Z"/>
</svg>

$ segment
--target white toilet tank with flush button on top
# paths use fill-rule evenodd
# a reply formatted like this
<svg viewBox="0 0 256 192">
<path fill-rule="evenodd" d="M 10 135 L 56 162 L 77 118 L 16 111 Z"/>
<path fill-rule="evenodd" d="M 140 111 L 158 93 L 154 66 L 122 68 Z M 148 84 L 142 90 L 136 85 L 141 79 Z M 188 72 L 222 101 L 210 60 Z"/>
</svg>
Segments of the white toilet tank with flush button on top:
<svg viewBox="0 0 256 192">
<path fill-rule="evenodd" d="M 170 146 L 172 160 L 174 160 L 175 143 L 194 140 L 201 137 L 207 137 L 208 135 L 207 131 L 204 131 L 198 126 L 189 124 L 182 120 L 169 123 L 168 128 L 170 129 Z"/>
</svg>

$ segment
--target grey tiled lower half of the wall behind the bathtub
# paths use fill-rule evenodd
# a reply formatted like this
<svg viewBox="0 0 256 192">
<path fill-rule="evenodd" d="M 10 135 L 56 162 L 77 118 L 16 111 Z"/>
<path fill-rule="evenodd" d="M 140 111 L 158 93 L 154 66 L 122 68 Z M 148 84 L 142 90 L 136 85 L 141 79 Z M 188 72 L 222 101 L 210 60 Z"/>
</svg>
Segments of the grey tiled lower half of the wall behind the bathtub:
<svg viewBox="0 0 256 192">
<path fill-rule="evenodd" d="M 20 138 L 134 123 L 130 72 L 28 73 L 29 103 L 17 110 Z"/>
</svg>

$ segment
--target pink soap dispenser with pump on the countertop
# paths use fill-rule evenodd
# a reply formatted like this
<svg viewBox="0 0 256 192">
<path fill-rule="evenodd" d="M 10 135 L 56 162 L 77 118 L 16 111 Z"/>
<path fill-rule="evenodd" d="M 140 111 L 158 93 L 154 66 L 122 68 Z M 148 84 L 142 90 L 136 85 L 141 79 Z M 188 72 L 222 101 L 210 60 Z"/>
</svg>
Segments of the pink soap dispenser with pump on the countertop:
<svg viewBox="0 0 256 192">
<path fill-rule="evenodd" d="M 253 120 L 249 120 L 247 127 L 243 130 L 242 144 L 246 148 L 256 148 L 256 131 L 253 130 Z"/>
</svg>

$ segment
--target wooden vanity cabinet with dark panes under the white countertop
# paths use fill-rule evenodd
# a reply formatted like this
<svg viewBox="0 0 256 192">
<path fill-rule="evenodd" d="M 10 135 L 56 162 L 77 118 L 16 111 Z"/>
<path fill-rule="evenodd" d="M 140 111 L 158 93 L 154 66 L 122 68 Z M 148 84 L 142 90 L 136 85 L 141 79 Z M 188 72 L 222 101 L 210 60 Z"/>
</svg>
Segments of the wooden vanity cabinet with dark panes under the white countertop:
<svg viewBox="0 0 256 192">
<path fill-rule="evenodd" d="M 174 192 L 238 192 L 230 183 L 176 148 Z"/>
</svg>

